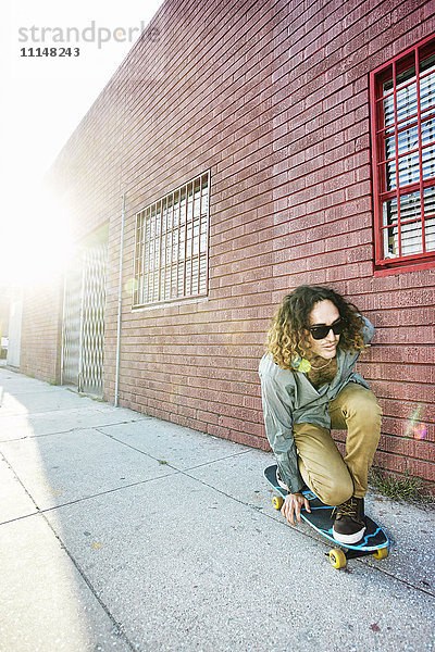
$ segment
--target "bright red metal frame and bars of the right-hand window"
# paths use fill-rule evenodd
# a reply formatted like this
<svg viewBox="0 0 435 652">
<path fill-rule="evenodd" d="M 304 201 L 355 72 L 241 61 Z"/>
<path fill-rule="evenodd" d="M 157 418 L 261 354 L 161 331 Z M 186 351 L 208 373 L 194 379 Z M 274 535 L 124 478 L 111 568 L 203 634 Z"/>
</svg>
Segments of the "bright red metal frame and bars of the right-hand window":
<svg viewBox="0 0 435 652">
<path fill-rule="evenodd" d="M 435 193 L 435 170 L 432 171 L 432 154 L 435 156 L 435 136 L 431 135 L 428 142 L 422 142 L 422 124 L 424 128 L 428 126 L 430 131 L 432 131 L 430 121 L 433 120 L 435 124 L 435 103 L 431 103 L 428 109 L 425 106 L 422 110 L 421 106 L 421 83 L 425 77 L 427 77 L 426 83 L 430 83 L 430 75 L 434 74 L 433 71 L 431 73 L 431 68 L 428 72 L 421 71 L 421 64 L 434 54 L 435 35 L 398 54 L 370 74 L 375 271 L 378 274 L 388 274 L 391 273 L 391 269 L 397 274 L 399 271 L 435 266 L 434 243 L 431 241 L 426 246 L 426 237 L 430 240 L 426 228 L 431 227 L 432 233 L 433 222 L 435 222 L 435 201 L 433 206 L 432 203 L 430 205 L 432 188 Z M 412 68 L 414 68 L 413 76 Z M 407 75 L 410 75 L 408 80 Z M 385 84 L 389 84 L 390 88 L 386 90 Z M 408 95 L 408 88 L 409 95 L 411 95 L 413 84 L 415 84 L 417 111 L 400 120 L 398 109 L 402 109 L 402 106 L 398 106 L 398 93 L 403 95 L 405 92 L 405 95 Z M 385 124 L 385 106 L 388 101 L 391 106 L 391 100 L 394 102 L 393 123 Z M 411 129 L 414 129 L 413 137 L 418 135 L 418 146 L 406 150 L 405 154 L 400 153 L 399 138 L 403 139 L 405 131 L 409 135 Z M 387 143 L 388 139 L 389 143 Z M 394 151 L 390 156 L 387 155 L 388 147 Z M 433 149 L 430 149 L 431 147 Z M 412 154 L 415 159 L 418 156 L 418 178 L 409 179 L 409 183 L 401 183 L 400 163 L 403 168 L 405 159 L 408 156 L 408 161 L 412 160 Z M 424 176 L 423 154 L 425 159 L 430 156 L 430 167 L 431 174 L 434 173 L 433 176 Z M 389 176 L 388 166 L 390 166 Z M 407 172 L 408 177 L 410 177 L 415 170 L 412 174 L 409 170 Z M 388 185 L 391 187 L 388 187 Z M 426 205 L 430 206 L 428 213 L 425 211 L 425 201 Z M 401 204 L 407 205 L 407 202 L 411 206 L 412 202 L 415 206 L 420 204 L 420 211 L 417 210 L 413 216 L 409 217 L 403 210 L 405 216 L 401 217 Z M 391 208 L 394 205 L 396 212 Z M 389 222 L 385 220 L 385 213 L 388 213 L 388 211 Z M 417 238 L 421 236 L 421 251 L 403 252 L 402 230 L 403 237 L 408 237 L 409 231 L 412 231 L 411 236 Z M 394 253 L 386 254 L 386 243 L 388 244 L 390 240 L 393 240 L 391 249 Z"/>
</svg>

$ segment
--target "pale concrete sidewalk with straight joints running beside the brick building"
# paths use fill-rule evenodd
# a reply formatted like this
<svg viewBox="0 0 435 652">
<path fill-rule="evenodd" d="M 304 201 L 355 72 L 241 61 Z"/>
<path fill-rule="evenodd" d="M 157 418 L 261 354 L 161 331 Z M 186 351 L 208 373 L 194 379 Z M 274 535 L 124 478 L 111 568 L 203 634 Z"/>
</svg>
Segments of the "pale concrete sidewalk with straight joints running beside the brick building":
<svg viewBox="0 0 435 652">
<path fill-rule="evenodd" d="M 2 388 L 2 389 L 1 389 Z M 0 368 L 2 652 L 434 650 L 435 515 L 335 570 L 273 456 Z"/>
</svg>

